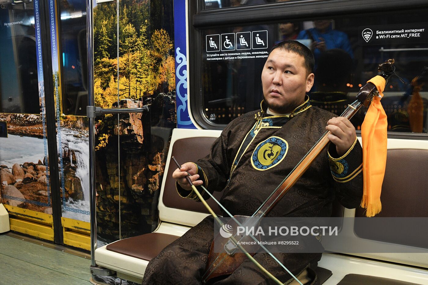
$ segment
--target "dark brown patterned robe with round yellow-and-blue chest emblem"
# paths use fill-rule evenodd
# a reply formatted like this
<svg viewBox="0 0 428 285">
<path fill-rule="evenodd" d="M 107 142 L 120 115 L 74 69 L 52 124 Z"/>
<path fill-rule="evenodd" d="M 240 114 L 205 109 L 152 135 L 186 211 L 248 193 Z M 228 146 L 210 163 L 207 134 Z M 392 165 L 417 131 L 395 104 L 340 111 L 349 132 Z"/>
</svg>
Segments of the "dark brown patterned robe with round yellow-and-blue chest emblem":
<svg viewBox="0 0 428 285">
<path fill-rule="evenodd" d="M 324 134 L 327 121 L 335 116 L 312 107 L 307 96 L 288 115 L 272 116 L 263 110 L 266 109 L 262 102 L 261 110 L 230 122 L 211 146 L 210 154 L 196 162 L 199 179 L 208 191 L 225 189 L 220 202 L 233 215 L 253 215 Z M 363 195 L 360 143 L 356 140 L 342 157 L 338 157 L 332 143 L 327 148 L 267 217 L 330 217 L 335 197 L 346 208 L 360 206 Z M 184 198 L 198 199 L 193 191 L 178 184 L 177 190 Z M 207 193 L 202 196 L 209 198 Z M 207 217 L 150 261 L 143 284 L 201 284 L 214 234 L 217 233 L 213 218 Z M 321 253 L 274 255 L 295 276 L 309 268 L 311 279 L 315 279 L 309 283 L 318 283 L 312 268 L 317 266 Z M 256 253 L 254 258 L 282 282 L 292 282 L 290 274 L 267 253 Z M 214 284 L 271 282 L 247 259 L 231 275 Z"/>
</svg>

